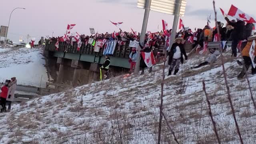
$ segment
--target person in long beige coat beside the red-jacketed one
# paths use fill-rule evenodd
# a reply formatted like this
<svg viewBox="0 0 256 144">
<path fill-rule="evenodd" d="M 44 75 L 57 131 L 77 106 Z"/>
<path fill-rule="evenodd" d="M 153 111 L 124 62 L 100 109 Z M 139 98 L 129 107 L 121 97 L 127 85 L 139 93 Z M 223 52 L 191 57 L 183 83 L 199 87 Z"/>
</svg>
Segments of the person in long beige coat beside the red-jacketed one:
<svg viewBox="0 0 256 144">
<path fill-rule="evenodd" d="M 11 78 L 11 82 L 9 83 L 8 86 L 9 86 L 9 90 L 8 90 L 8 94 L 7 94 L 7 98 L 6 98 L 6 105 L 8 105 L 7 112 L 10 112 L 12 102 L 14 101 L 14 93 L 15 93 L 16 86 L 17 86 L 17 80 L 15 77 Z"/>
</svg>

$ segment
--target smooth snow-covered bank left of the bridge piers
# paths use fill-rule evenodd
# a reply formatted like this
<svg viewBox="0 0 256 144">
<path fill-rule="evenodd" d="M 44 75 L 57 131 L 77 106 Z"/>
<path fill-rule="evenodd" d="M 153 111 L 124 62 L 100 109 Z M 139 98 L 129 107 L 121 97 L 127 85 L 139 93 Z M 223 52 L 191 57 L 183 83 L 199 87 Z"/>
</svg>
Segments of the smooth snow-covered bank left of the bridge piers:
<svg viewBox="0 0 256 144">
<path fill-rule="evenodd" d="M 42 77 L 41 87 L 46 87 L 48 75 L 40 49 L 20 48 L 6 52 L 1 53 L 0 49 L 0 81 L 16 77 L 20 85 L 39 87 Z"/>
</svg>

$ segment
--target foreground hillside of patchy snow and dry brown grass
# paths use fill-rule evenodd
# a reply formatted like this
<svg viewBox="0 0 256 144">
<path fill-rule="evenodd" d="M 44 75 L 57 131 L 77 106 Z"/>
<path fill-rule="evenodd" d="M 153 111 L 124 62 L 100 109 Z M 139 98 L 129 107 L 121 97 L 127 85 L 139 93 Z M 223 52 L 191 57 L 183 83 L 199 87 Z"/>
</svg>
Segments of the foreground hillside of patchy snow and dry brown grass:
<svg viewBox="0 0 256 144">
<path fill-rule="evenodd" d="M 256 114 L 247 83 L 236 79 L 240 68 L 229 57 L 225 55 L 225 67 L 240 132 L 244 144 L 255 144 Z M 187 84 L 183 94 L 177 92 L 182 85 L 181 72 L 166 78 L 164 114 L 180 144 L 216 144 L 202 91 L 205 80 L 222 144 L 238 144 L 220 60 L 190 70 L 203 59 L 190 57 L 183 65 Z M 119 76 L 14 105 L 11 113 L 0 114 L 0 143 L 156 144 L 161 75 L 158 65 L 144 76 Z M 248 76 L 255 99 L 256 76 Z M 161 143 L 175 143 L 165 120 Z"/>
</svg>

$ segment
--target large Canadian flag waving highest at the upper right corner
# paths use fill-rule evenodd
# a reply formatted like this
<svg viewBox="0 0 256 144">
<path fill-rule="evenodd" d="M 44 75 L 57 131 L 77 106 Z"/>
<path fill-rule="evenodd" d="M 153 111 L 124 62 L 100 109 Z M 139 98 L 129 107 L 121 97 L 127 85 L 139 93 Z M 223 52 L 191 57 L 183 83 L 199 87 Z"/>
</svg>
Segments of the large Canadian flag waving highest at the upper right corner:
<svg viewBox="0 0 256 144">
<path fill-rule="evenodd" d="M 238 18 L 249 24 L 256 23 L 256 21 L 252 17 L 250 17 L 248 14 L 245 14 L 244 12 L 236 8 L 234 5 L 231 5 L 228 15 L 233 16 L 234 18 Z"/>
</svg>

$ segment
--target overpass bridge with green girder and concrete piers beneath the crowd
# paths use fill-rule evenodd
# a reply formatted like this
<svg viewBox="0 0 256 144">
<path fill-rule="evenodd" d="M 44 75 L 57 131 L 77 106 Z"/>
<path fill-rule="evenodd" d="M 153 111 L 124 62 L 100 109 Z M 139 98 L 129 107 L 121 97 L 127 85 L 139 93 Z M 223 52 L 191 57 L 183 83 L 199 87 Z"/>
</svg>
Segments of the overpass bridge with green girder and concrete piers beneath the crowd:
<svg viewBox="0 0 256 144">
<path fill-rule="evenodd" d="M 161 43 L 164 44 L 164 42 Z M 58 71 L 57 75 L 52 73 L 56 75 L 56 82 L 58 84 L 65 83 L 78 86 L 100 80 L 99 68 L 105 60 L 103 48 L 100 49 L 100 52 L 94 52 L 93 46 L 82 43 L 80 51 L 77 51 L 76 42 L 74 42 L 73 46 L 66 42 L 60 42 L 58 49 L 56 49 L 55 44 L 56 41 L 47 41 L 44 55 L 47 57 L 48 66 L 50 65 L 52 71 Z M 208 46 L 209 48 L 218 48 L 218 44 L 218 42 L 209 42 Z M 227 42 L 227 45 L 231 46 L 231 42 Z M 187 44 L 185 49 L 186 52 L 190 52 L 192 44 Z M 154 50 L 163 54 L 164 45 L 160 45 L 158 48 L 154 48 Z M 130 68 L 128 62 L 130 52 L 129 41 L 126 41 L 125 45 L 122 46 L 116 45 L 113 56 L 110 56 L 110 66 L 114 75 L 118 72 L 128 71 L 128 68 Z"/>
</svg>

